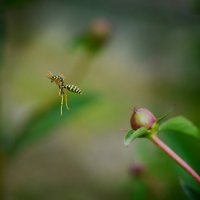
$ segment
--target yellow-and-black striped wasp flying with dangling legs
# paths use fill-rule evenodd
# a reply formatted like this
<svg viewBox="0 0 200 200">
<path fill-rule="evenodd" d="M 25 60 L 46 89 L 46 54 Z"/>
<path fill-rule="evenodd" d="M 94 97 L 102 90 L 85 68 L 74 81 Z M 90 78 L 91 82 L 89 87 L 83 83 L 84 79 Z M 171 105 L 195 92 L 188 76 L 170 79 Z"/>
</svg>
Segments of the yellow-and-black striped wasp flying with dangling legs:
<svg viewBox="0 0 200 200">
<path fill-rule="evenodd" d="M 66 108 L 67 108 L 67 110 L 69 110 L 68 103 L 67 103 L 67 93 L 66 93 L 65 90 L 67 89 L 68 91 L 74 92 L 74 93 L 77 93 L 77 94 L 82 94 L 82 91 L 75 85 L 65 84 L 65 78 L 64 78 L 63 74 L 54 75 L 53 73 L 48 72 L 47 78 L 50 79 L 52 83 L 54 82 L 59 88 L 59 96 L 61 97 L 60 113 L 62 115 L 62 108 L 63 108 L 64 99 L 65 99 Z"/>
</svg>

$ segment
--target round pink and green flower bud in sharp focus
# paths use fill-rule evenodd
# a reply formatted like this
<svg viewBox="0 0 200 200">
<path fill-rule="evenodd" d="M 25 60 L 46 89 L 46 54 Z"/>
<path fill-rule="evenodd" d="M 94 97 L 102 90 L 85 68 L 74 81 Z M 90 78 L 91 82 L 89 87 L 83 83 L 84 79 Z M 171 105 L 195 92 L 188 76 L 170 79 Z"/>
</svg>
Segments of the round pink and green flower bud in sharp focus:
<svg viewBox="0 0 200 200">
<path fill-rule="evenodd" d="M 131 116 L 131 127 L 133 130 L 137 130 L 142 127 L 150 130 L 156 122 L 156 117 L 146 108 L 134 109 Z"/>
</svg>

